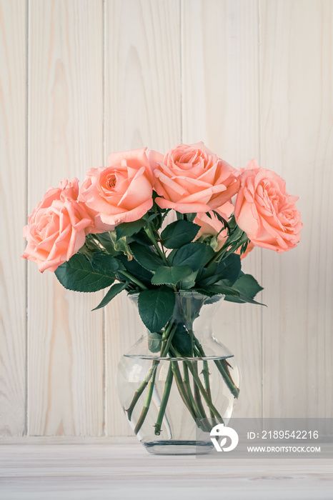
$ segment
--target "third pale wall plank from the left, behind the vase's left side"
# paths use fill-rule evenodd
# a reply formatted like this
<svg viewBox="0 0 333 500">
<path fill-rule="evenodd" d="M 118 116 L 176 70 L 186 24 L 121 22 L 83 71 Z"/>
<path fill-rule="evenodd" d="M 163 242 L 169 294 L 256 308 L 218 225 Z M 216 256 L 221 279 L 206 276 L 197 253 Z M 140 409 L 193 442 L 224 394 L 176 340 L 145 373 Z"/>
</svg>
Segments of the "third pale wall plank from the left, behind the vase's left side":
<svg viewBox="0 0 333 500">
<path fill-rule="evenodd" d="M 179 0 L 105 2 L 105 151 L 181 141 Z M 114 386 L 116 366 L 139 339 L 126 295 L 106 308 L 106 434 L 132 434 Z M 130 307 L 130 309 L 129 309 Z"/>
</svg>

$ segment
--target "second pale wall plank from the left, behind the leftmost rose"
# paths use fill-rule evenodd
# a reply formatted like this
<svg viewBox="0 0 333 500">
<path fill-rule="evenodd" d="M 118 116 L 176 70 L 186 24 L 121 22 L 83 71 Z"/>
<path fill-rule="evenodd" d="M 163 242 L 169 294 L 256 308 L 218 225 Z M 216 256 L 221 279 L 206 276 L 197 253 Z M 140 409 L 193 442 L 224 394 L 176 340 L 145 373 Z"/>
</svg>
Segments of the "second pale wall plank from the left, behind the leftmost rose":
<svg viewBox="0 0 333 500">
<path fill-rule="evenodd" d="M 29 212 L 64 177 L 102 164 L 101 0 L 29 2 Z M 100 296 L 29 265 L 29 434 L 104 431 Z"/>
</svg>

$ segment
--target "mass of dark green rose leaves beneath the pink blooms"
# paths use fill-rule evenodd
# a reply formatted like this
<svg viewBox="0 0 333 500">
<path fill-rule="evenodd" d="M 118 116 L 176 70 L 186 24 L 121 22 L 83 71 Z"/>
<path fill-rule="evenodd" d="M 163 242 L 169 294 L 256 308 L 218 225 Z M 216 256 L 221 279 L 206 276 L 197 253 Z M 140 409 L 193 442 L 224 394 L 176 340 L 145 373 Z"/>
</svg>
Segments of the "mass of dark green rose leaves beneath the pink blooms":
<svg viewBox="0 0 333 500">
<path fill-rule="evenodd" d="M 193 222 L 196 214 L 177 213 L 177 221 L 161 231 L 168 212 L 154 203 L 137 221 L 119 224 L 114 231 L 89 234 L 79 252 L 55 271 L 70 290 L 92 292 L 109 287 L 93 310 L 106 306 L 123 290 L 139 293 L 139 314 L 151 332 L 151 352 L 161 351 L 163 329 L 171 326 L 174 291 L 197 291 L 207 296 L 207 303 L 223 295 L 227 301 L 259 304 L 254 297 L 262 290 L 253 276 L 242 272 L 240 256 L 235 254 L 237 249 L 246 250 L 249 239 L 234 217 L 226 221 L 214 212 L 228 230 L 224 246 L 214 251 L 214 236 L 194 241 L 200 229 Z M 193 299 L 190 311 L 186 301 L 184 304 L 184 323 L 172 329 L 172 346 L 181 356 L 191 356 L 189 329 L 202 300 L 198 311 L 193 310 Z"/>
</svg>

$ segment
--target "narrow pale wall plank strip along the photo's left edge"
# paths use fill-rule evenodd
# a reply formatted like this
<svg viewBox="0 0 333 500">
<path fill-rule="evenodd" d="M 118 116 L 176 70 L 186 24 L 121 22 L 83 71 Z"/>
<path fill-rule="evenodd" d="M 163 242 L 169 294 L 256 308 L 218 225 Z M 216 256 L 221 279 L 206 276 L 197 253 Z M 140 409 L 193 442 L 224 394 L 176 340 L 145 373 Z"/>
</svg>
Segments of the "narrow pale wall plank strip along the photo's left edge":
<svg viewBox="0 0 333 500">
<path fill-rule="evenodd" d="M 26 2 L 0 1 L 0 436 L 25 432 Z"/>
</svg>

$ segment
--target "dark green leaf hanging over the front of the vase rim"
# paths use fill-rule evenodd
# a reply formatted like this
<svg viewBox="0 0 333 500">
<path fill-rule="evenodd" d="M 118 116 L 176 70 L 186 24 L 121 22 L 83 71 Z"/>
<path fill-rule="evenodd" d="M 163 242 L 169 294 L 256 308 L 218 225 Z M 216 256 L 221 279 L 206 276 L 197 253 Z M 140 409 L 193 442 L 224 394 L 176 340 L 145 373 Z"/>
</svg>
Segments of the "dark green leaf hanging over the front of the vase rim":
<svg viewBox="0 0 333 500">
<path fill-rule="evenodd" d="M 167 286 L 141 291 L 138 299 L 139 314 L 147 329 L 154 333 L 164 328 L 174 312 L 174 304 L 174 292 Z"/>
</svg>

